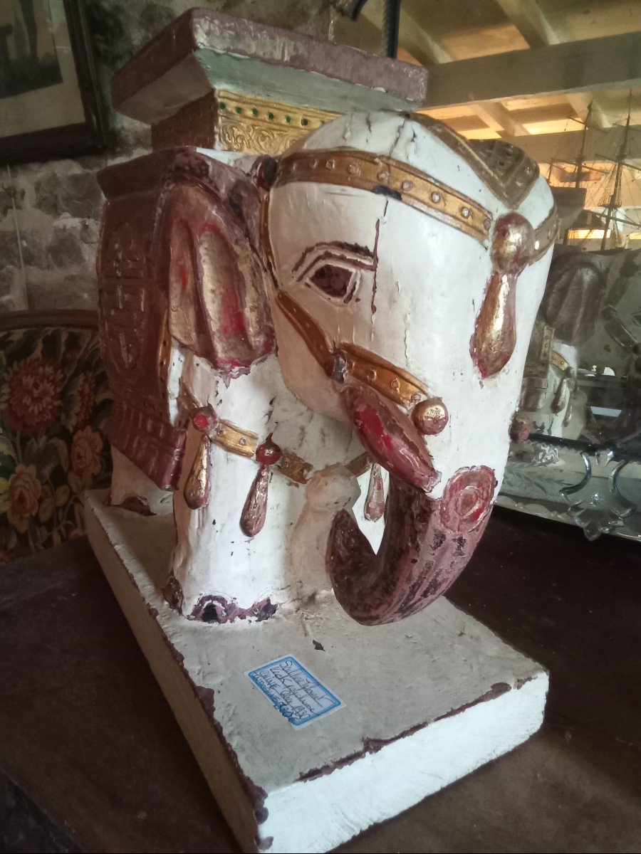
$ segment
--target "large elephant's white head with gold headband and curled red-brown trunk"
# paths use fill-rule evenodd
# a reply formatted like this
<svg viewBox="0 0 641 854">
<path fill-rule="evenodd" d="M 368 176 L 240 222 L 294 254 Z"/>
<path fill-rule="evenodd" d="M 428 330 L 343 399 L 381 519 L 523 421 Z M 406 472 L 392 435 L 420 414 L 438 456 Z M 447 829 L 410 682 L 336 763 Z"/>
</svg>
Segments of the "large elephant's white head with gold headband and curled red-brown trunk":
<svg viewBox="0 0 641 854">
<path fill-rule="evenodd" d="M 426 117 L 352 114 L 290 149 L 263 211 L 285 383 L 390 472 L 378 553 L 347 511 L 327 567 L 360 623 L 442 594 L 503 477 L 556 213 L 538 167 Z"/>
</svg>

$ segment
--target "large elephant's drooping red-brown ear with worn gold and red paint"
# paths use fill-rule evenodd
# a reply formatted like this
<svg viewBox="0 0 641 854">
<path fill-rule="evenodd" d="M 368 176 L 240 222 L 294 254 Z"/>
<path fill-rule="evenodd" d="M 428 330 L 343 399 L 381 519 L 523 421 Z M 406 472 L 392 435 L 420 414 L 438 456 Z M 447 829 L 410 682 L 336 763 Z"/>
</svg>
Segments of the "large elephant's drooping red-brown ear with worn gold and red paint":
<svg viewBox="0 0 641 854">
<path fill-rule="evenodd" d="M 169 331 L 226 373 L 273 349 L 260 206 L 256 184 L 239 169 L 185 151 L 157 218 L 154 254 L 168 280 Z"/>
</svg>

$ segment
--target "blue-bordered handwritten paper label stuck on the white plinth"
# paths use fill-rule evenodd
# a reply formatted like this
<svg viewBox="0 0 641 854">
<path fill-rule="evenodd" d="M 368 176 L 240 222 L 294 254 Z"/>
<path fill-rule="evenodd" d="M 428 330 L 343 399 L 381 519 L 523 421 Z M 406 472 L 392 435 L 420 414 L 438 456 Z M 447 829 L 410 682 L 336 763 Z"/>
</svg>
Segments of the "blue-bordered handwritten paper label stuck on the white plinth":
<svg viewBox="0 0 641 854">
<path fill-rule="evenodd" d="M 344 705 L 293 655 L 262 664 L 247 676 L 292 727 L 303 727 Z"/>
</svg>

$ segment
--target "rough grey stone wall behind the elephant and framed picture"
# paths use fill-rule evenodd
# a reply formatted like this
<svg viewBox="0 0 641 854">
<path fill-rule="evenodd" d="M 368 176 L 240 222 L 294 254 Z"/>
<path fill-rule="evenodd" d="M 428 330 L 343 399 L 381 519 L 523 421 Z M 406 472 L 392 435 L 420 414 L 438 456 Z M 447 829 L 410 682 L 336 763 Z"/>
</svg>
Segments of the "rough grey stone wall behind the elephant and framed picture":
<svg viewBox="0 0 641 854">
<path fill-rule="evenodd" d="M 0 313 L 94 308 L 103 204 L 96 173 L 142 155 L 149 129 L 109 108 L 109 79 L 143 44 L 191 6 L 327 38 L 328 0 L 85 0 L 97 73 L 108 105 L 109 148 L 74 160 L 0 167 Z"/>
</svg>

